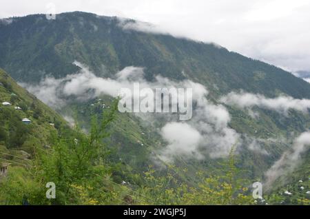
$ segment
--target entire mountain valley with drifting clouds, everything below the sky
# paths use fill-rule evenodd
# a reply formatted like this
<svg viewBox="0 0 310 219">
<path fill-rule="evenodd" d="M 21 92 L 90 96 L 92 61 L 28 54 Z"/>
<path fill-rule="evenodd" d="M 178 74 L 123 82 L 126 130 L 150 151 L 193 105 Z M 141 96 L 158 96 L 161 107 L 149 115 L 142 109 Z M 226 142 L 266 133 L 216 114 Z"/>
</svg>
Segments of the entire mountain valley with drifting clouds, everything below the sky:
<svg viewBox="0 0 310 219">
<path fill-rule="evenodd" d="M 310 84 L 136 25 L 86 12 L 0 23 L 0 102 L 10 103 L 0 106 L 0 158 L 10 163 L 0 203 L 309 205 Z M 119 89 L 135 82 L 191 87 L 191 119 L 119 112 Z M 41 197 L 50 180 L 56 200 Z M 251 197 L 255 182 L 263 202 Z"/>
</svg>

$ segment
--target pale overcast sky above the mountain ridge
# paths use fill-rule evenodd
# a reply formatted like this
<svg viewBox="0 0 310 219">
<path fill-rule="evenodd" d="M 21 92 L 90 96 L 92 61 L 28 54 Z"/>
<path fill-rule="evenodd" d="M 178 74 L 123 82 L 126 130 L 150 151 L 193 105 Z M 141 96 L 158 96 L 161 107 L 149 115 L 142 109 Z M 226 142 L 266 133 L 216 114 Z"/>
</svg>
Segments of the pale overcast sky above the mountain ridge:
<svg viewBox="0 0 310 219">
<path fill-rule="evenodd" d="M 310 70 L 309 0 L 0 0 L 0 17 L 94 12 L 154 23 L 287 70 Z"/>
</svg>

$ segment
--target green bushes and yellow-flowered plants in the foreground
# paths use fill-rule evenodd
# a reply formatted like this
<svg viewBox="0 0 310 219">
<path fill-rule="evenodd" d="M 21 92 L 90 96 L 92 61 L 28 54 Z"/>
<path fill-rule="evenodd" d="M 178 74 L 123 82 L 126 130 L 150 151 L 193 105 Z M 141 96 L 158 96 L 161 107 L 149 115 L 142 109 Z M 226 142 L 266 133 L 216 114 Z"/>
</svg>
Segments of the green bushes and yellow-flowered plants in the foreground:
<svg viewBox="0 0 310 219">
<path fill-rule="evenodd" d="M 248 182 L 238 179 L 234 149 L 220 176 L 205 178 L 196 173 L 196 186 L 178 180 L 178 171 L 166 165 L 167 174 L 158 176 L 156 169 L 132 178 L 141 183 L 115 183 L 115 164 L 109 163 L 109 150 L 102 143 L 107 127 L 116 116 L 117 101 L 105 111 L 103 119 L 92 118 L 90 134 L 76 125 L 74 134 L 52 134 L 50 149 L 37 152 L 28 166 L 14 165 L 0 182 L 2 205 L 254 205 Z M 56 185 L 56 198 L 46 198 L 46 183 Z M 274 197 L 273 197 L 274 198 Z M 309 204 L 307 200 L 300 200 Z M 260 203 L 264 204 L 264 203 Z"/>
</svg>

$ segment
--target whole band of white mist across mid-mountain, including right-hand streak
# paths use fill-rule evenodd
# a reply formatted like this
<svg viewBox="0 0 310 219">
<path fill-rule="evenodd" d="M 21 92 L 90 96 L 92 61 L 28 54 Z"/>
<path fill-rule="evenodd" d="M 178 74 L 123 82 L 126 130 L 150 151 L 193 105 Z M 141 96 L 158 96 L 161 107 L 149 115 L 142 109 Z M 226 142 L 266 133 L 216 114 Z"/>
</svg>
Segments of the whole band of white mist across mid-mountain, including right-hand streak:
<svg viewBox="0 0 310 219">
<path fill-rule="evenodd" d="M 261 139 L 253 137 L 249 139 L 247 136 L 229 127 L 231 116 L 225 105 L 235 105 L 242 110 L 248 110 L 249 114 L 253 114 L 251 110 L 255 105 L 285 114 L 285 116 L 288 116 L 288 110 L 298 110 L 307 113 L 310 107 L 310 100 L 307 99 L 298 100 L 290 96 L 267 98 L 260 94 L 245 92 L 233 92 L 222 96 L 218 103 L 211 103 L 207 99 L 207 89 L 200 83 L 195 83 L 191 80 L 172 81 L 158 75 L 154 77 L 154 81 L 147 81 L 144 78 L 143 67 L 133 66 L 125 67 L 111 78 L 101 78 L 94 75 L 81 63 L 74 63 L 81 67 L 81 71 L 77 74 L 68 75 L 63 79 L 48 77 L 38 85 L 21 85 L 32 92 L 32 94 L 35 94 L 41 101 L 56 110 L 60 110 L 61 107 L 67 104 L 68 97 L 70 99 L 76 98 L 77 101 L 89 100 L 102 94 L 117 97 L 118 94 L 121 94 L 122 88 L 130 90 L 134 83 L 138 83 L 138 98 L 142 97 L 142 101 L 132 102 L 132 112 L 147 121 L 152 122 L 158 119 L 165 121 L 162 127 L 158 128 L 163 139 L 167 141 L 167 146 L 158 151 L 158 154 L 161 159 L 167 162 L 173 162 L 175 156 L 195 159 L 203 159 L 206 155 L 211 158 L 225 157 L 228 156 L 232 145 L 237 142 L 237 152 L 239 152 L 238 148 L 241 148 L 239 147 L 240 145 L 249 145 L 248 149 L 255 150 L 256 152 L 260 151 L 262 148 L 259 145 L 262 141 Z M 166 89 L 156 94 L 156 88 L 158 87 L 166 87 Z M 179 92 L 178 88 L 184 88 L 184 92 Z M 187 88 L 186 92 L 185 88 Z M 90 90 L 92 92 L 89 92 Z M 129 90 L 127 90 L 128 98 L 123 99 L 125 101 L 125 103 L 123 102 L 125 104 L 123 105 L 123 110 L 130 106 L 130 103 L 126 103 L 126 100 L 131 99 L 133 101 L 132 97 L 136 96 L 135 94 L 131 96 L 131 90 L 130 92 Z M 148 93 L 149 95 L 147 95 Z M 163 96 L 163 94 L 165 95 Z M 167 96 L 169 96 L 169 99 Z M 192 101 L 190 101 L 191 96 Z M 161 101 L 157 103 L 156 100 L 151 101 L 152 97 L 158 97 Z M 182 98 L 183 102 L 180 104 Z M 162 108 L 163 103 L 167 102 L 168 104 L 165 104 L 166 107 Z M 141 104 L 145 106 L 142 110 Z M 152 110 L 156 112 L 156 106 L 161 106 L 161 108 L 157 108 L 157 112 L 161 109 L 161 112 L 169 111 L 169 113 L 141 113 L 152 112 Z M 259 117 L 259 114 L 255 115 L 256 118 Z M 181 116 L 190 119 L 182 121 Z M 243 142 L 244 140 L 240 138 L 241 136 L 247 140 Z M 307 144 L 305 144 L 305 147 L 307 147 Z M 269 156 L 264 149 L 261 151 L 264 156 Z M 282 174 L 285 173 L 282 172 Z"/>
</svg>

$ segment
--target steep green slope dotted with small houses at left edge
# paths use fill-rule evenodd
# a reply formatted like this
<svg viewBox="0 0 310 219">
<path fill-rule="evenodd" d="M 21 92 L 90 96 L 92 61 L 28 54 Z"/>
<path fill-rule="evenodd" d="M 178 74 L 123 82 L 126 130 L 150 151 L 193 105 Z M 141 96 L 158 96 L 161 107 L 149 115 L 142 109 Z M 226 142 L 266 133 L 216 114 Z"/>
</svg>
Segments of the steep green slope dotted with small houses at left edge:
<svg viewBox="0 0 310 219">
<path fill-rule="evenodd" d="M 27 163 L 35 149 L 50 147 L 52 132 L 70 129 L 59 114 L 23 89 L 0 69 L 0 159 Z M 11 105 L 3 105 L 8 102 Z M 17 108 L 19 107 L 19 108 Z M 22 122 L 30 119 L 30 124 Z"/>
</svg>

